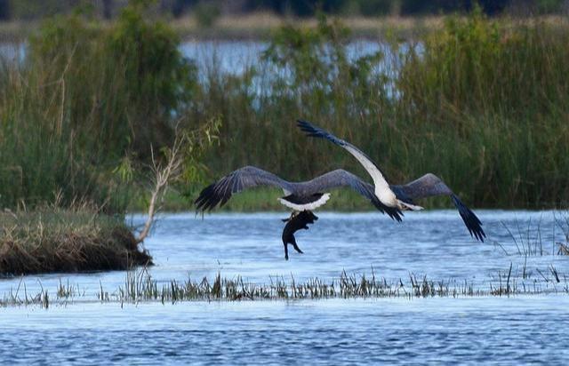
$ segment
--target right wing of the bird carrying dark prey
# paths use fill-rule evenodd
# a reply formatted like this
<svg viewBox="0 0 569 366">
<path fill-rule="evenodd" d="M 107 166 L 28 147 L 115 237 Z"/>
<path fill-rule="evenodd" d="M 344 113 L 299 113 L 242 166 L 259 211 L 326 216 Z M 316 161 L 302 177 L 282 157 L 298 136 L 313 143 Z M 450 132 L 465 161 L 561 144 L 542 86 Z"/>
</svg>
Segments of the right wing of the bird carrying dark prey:
<svg viewBox="0 0 569 366">
<path fill-rule="evenodd" d="M 305 184 L 309 186 L 311 190 L 317 192 L 325 191 L 330 188 L 350 187 L 360 195 L 365 196 L 365 198 L 373 203 L 376 209 L 388 214 L 391 219 L 401 221 L 401 217 L 403 216 L 403 212 L 399 211 L 397 207 L 388 207 L 381 203 L 373 192 L 374 188 L 371 184 L 366 183 L 355 174 L 344 171 L 343 169 L 329 171 L 315 179 L 309 180 Z"/>
</svg>

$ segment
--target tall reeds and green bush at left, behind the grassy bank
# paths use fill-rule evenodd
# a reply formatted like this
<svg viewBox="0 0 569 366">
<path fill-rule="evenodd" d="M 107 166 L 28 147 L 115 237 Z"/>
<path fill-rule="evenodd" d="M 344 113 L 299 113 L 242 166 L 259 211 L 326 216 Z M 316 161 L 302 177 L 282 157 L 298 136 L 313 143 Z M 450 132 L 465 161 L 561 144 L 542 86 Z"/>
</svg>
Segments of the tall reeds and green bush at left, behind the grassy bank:
<svg viewBox="0 0 569 366">
<path fill-rule="evenodd" d="M 173 139 L 196 76 L 162 22 L 128 6 L 103 28 L 79 15 L 44 23 L 26 58 L 0 67 L 0 206 L 87 198 L 124 211 L 124 158 L 148 162 Z M 132 185 L 132 181 L 130 182 Z"/>
</svg>

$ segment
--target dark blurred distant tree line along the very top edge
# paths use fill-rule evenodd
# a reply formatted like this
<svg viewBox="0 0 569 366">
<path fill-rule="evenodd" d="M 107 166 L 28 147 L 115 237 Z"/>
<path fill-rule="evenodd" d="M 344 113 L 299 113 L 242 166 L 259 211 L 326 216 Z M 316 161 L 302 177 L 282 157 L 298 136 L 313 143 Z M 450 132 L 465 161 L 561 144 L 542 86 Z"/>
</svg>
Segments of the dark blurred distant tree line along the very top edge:
<svg viewBox="0 0 569 366">
<path fill-rule="evenodd" d="M 0 0 L 0 19 L 36 20 L 70 13 L 76 6 L 87 6 L 93 13 L 110 19 L 120 13 L 125 0 Z M 244 12 L 274 12 L 286 16 L 310 17 L 317 12 L 336 15 L 427 15 L 469 12 L 479 4 L 485 13 L 546 14 L 566 12 L 565 0 L 139 0 L 154 4 L 154 12 L 180 17 L 197 13 L 239 15 Z M 214 10 L 215 9 L 215 10 Z M 198 17 L 200 18 L 200 17 Z M 212 19 L 212 18 L 210 18 Z"/>
</svg>

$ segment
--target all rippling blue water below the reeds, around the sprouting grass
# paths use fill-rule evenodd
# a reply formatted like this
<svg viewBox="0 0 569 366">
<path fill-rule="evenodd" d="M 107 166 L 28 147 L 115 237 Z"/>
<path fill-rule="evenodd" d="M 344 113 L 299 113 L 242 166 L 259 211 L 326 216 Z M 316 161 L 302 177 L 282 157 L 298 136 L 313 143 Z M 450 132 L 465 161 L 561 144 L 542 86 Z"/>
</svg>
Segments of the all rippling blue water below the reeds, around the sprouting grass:
<svg viewBox="0 0 569 366">
<path fill-rule="evenodd" d="M 271 275 L 332 281 L 342 270 L 373 268 L 389 281 L 414 274 L 488 288 L 511 265 L 512 281 L 545 293 L 121 306 L 100 304 L 96 294 L 100 286 L 124 285 L 124 272 L 32 275 L 1 280 L 0 296 L 25 285 L 53 298 L 69 282 L 84 300 L 0 309 L 0 362 L 564 364 L 569 258 L 557 255 L 556 242 L 564 241 L 566 214 L 477 213 L 487 243 L 471 240 L 455 211 L 409 213 L 403 223 L 375 213 L 318 213 L 297 235 L 305 254 L 293 252 L 288 262 L 280 243 L 284 212 L 164 215 L 146 243 L 156 263 L 149 271 L 164 283 L 218 272 L 266 283 Z"/>
</svg>

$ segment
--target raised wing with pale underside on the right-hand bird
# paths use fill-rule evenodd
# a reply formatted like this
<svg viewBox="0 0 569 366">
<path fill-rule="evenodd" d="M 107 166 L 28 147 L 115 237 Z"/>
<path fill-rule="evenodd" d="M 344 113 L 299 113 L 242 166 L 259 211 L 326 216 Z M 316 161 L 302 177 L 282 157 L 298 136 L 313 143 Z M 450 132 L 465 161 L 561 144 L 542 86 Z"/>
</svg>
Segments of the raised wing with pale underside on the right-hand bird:
<svg viewBox="0 0 569 366">
<path fill-rule="evenodd" d="M 298 120 L 296 123 L 301 128 L 302 131 L 306 132 L 307 136 L 320 138 L 320 139 L 327 139 L 329 141 L 332 141 L 334 144 L 348 150 L 349 153 L 351 155 L 354 155 L 357 161 L 364 166 L 365 171 L 367 171 L 370 174 L 370 176 L 373 179 L 373 184 L 375 185 L 375 187 L 379 187 L 380 189 L 389 189 L 389 183 L 387 181 L 385 174 L 383 174 L 380 168 L 378 168 L 377 165 L 375 165 L 372 162 L 372 159 L 370 159 L 368 155 L 365 155 L 365 153 L 361 151 L 359 148 L 353 146 L 348 141 L 337 138 L 332 133 L 325 131 L 320 127 L 317 127 L 314 124 L 309 123 L 307 121 Z"/>
</svg>

